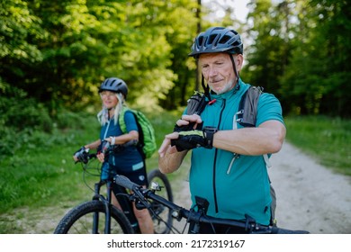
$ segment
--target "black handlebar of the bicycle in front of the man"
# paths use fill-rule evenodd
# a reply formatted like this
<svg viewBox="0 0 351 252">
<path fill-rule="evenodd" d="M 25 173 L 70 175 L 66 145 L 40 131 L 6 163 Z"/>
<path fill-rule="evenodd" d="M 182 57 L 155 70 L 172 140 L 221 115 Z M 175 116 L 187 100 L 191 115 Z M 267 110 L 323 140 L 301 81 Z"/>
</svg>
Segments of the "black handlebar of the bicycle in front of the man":
<svg viewBox="0 0 351 252">
<path fill-rule="evenodd" d="M 202 214 L 199 211 L 186 210 L 181 206 L 176 205 L 173 202 L 167 201 L 165 198 L 158 196 L 154 191 L 143 188 L 139 184 L 135 184 L 130 181 L 130 179 L 123 175 L 115 175 L 114 183 L 121 185 L 127 189 L 133 191 L 136 197 L 141 201 L 145 202 L 145 199 L 149 198 L 156 202 L 159 202 L 165 205 L 167 208 L 174 212 L 173 216 L 177 220 L 185 218 L 187 221 L 196 221 L 214 225 L 224 225 L 232 226 L 241 229 L 246 229 L 249 233 L 261 233 L 261 234 L 308 234 L 308 231 L 305 230 L 290 230 L 290 229 L 281 229 L 273 226 L 265 226 L 257 224 L 255 220 L 229 220 L 229 219 L 219 219 L 214 218 L 208 215 Z"/>
</svg>

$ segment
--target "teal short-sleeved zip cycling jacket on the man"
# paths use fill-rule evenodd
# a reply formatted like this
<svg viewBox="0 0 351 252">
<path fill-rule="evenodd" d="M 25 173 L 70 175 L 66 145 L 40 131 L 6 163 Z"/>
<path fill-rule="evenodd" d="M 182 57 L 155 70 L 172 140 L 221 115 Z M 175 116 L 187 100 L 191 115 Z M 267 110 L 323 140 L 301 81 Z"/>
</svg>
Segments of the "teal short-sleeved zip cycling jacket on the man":
<svg viewBox="0 0 351 252">
<path fill-rule="evenodd" d="M 241 96 L 249 85 L 239 80 L 239 88 L 225 94 L 211 94 L 215 103 L 206 105 L 201 114 L 203 127 L 232 130 Z M 185 112 L 186 113 L 186 110 Z M 273 94 L 260 95 L 257 107 L 257 127 L 264 121 L 284 123 L 282 107 Z M 243 128 L 237 124 L 238 129 Z M 270 182 L 263 156 L 240 155 L 218 148 L 194 148 L 189 175 L 193 205 L 194 196 L 210 202 L 207 214 L 231 220 L 245 220 L 245 214 L 257 223 L 268 225 L 270 220 Z"/>
</svg>

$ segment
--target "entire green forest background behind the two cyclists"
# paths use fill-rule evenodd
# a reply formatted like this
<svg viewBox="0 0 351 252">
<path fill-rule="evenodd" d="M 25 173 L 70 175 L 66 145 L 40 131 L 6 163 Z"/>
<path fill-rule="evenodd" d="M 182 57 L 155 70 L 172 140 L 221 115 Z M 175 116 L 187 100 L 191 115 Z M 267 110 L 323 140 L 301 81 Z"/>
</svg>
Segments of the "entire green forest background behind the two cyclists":
<svg viewBox="0 0 351 252">
<path fill-rule="evenodd" d="M 67 155 L 64 146 L 73 153 L 85 143 L 79 134 L 67 132 L 96 121 L 101 109 L 97 90 L 106 77 L 125 80 L 130 106 L 147 112 L 155 123 L 157 115 L 164 116 L 162 123 L 168 120 L 171 129 L 188 97 L 202 89 L 196 62 L 187 56 L 193 39 L 214 25 L 241 34 L 245 67 L 240 76 L 280 99 L 288 126 L 297 129 L 290 130 L 289 137 L 301 139 L 301 146 L 317 139 L 311 132 L 320 133 L 320 142 L 332 139 L 332 150 L 314 148 L 323 149 L 327 158 L 334 155 L 337 161 L 329 164 L 338 162 L 346 168 L 344 174 L 350 174 L 351 2 L 250 0 L 245 21 L 233 14 L 237 0 L 201 2 L 0 2 L 2 211 L 26 204 L 20 199 L 24 193 L 27 202 L 49 202 L 52 192 L 29 192 L 34 190 L 32 182 L 47 186 L 49 167 L 59 169 L 52 159 Z M 301 117 L 307 120 L 290 121 Z M 325 130 L 319 130 L 321 124 Z M 302 134 L 302 128 L 309 134 Z M 165 125 L 157 129 L 168 130 Z M 158 143 L 163 136 L 157 136 Z M 44 165 L 45 172 L 39 168 Z"/>
</svg>

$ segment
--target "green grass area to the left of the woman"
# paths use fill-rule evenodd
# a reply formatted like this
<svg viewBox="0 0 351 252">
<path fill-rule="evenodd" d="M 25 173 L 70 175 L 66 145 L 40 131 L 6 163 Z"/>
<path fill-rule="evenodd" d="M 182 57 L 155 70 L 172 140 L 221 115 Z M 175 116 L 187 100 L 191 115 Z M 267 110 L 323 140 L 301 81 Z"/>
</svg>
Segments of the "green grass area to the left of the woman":
<svg viewBox="0 0 351 252">
<path fill-rule="evenodd" d="M 21 146 L 11 149 L 11 155 L 3 153 L 0 161 L 1 212 L 24 205 L 49 205 L 61 199 L 86 198 L 83 192 L 70 195 L 72 190 L 78 190 L 82 179 L 72 155 L 86 139 L 92 138 L 92 132 L 98 137 L 100 125 L 94 115 L 87 116 L 86 113 L 62 112 L 58 118 L 64 119 L 59 122 L 61 129 L 48 133 L 32 129 Z M 22 138 L 12 137 L 22 142 Z"/>
</svg>

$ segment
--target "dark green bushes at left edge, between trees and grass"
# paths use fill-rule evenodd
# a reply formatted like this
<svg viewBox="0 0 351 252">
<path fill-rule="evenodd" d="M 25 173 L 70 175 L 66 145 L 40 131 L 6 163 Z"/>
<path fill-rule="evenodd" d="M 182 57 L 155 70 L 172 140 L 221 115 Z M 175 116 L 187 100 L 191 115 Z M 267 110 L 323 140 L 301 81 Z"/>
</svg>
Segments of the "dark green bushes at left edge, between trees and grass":
<svg viewBox="0 0 351 252">
<path fill-rule="evenodd" d="M 12 156 L 19 151 L 28 154 L 38 146 L 50 148 L 55 144 L 69 143 L 72 139 L 59 137 L 59 130 L 85 128 L 82 117 L 86 112 L 77 115 L 60 110 L 52 116 L 43 103 L 38 103 L 23 90 L 5 83 L 1 85 L 0 157 Z"/>
</svg>

